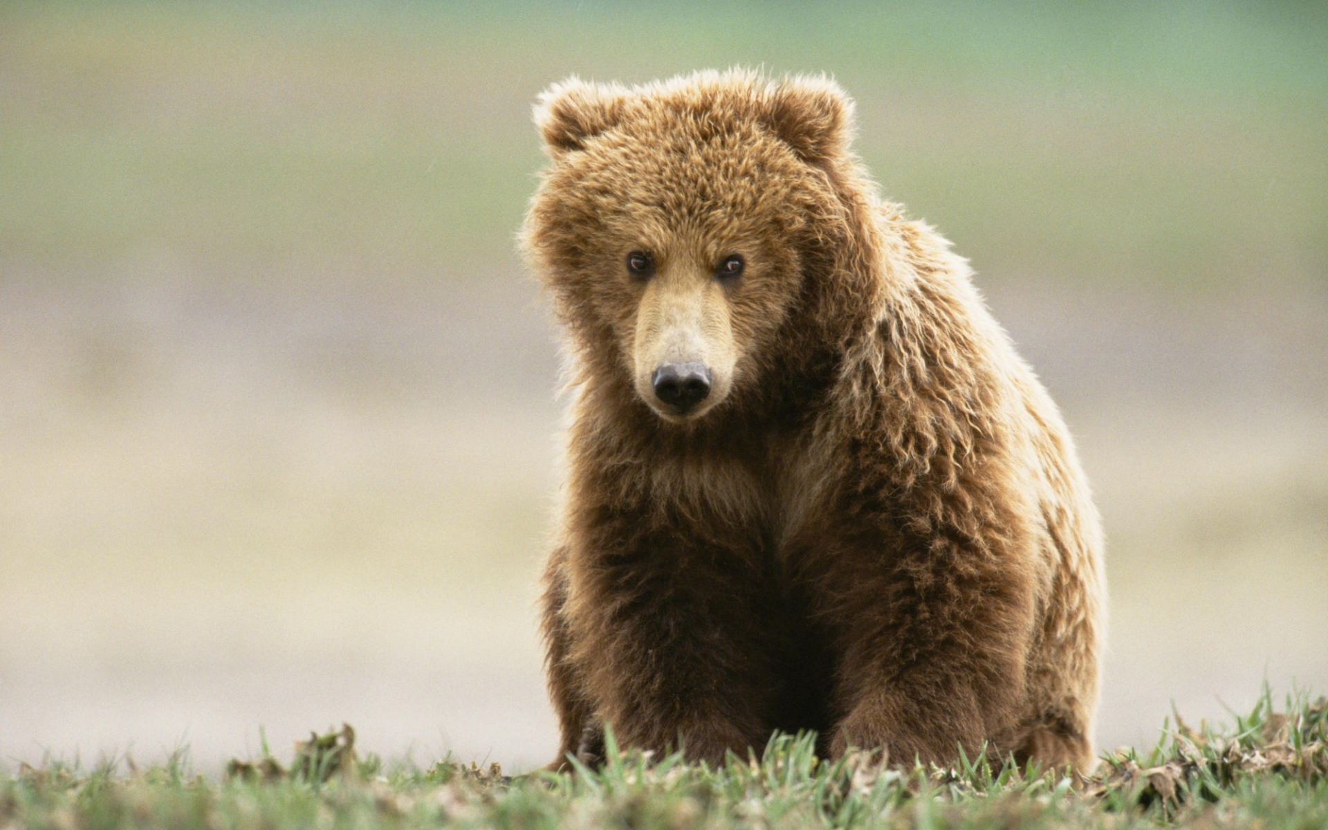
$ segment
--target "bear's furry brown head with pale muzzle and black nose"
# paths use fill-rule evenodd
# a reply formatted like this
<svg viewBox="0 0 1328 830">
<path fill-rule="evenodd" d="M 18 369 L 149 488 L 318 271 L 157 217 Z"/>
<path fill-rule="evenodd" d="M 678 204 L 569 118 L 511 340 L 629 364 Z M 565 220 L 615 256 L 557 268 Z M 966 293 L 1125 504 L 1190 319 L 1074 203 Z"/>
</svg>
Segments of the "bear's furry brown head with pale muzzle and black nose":
<svg viewBox="0 0 1328 830">
<path fill-rule="evenodd" d="M 851 110 L 826 78 L 744 70 L 547 90 L 522 243 L 583 374 L 693 424 L 788 372 L 773 343 L 798 340 L 851 224 Z"/>
</svg>

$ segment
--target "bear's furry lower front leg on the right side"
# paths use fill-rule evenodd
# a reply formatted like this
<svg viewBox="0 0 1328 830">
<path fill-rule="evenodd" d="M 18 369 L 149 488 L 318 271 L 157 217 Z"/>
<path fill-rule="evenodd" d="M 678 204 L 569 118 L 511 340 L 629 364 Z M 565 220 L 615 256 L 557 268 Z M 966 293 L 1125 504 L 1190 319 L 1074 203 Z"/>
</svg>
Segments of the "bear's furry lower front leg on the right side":
<svg viewBox="0 0 1328 830">
<path fill-rule="evenodd" d="M 1035 616 L 1029 571 L 980 539 L 919 542 L 888 563 L 879 552 L 858 558 L 835 591 L 845 624 L 831 757 L 884 748 L 895 764 L 951 764 L 1017 717 Z"/>
</svg>

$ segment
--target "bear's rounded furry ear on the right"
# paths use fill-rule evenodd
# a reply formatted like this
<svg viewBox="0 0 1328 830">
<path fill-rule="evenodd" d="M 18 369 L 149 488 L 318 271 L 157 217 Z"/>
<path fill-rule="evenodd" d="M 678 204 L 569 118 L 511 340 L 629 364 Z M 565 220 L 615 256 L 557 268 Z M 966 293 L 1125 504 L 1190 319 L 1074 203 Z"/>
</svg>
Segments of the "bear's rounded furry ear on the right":
<svg viewBox="0 0 1328 830">
<path fill-rule="evenodd" d="M 842 153 L 853 131 L 853 98 L 826 77 L 793 77 L 770 85 L 766 121 L 807 162 Z"/>
</svg>

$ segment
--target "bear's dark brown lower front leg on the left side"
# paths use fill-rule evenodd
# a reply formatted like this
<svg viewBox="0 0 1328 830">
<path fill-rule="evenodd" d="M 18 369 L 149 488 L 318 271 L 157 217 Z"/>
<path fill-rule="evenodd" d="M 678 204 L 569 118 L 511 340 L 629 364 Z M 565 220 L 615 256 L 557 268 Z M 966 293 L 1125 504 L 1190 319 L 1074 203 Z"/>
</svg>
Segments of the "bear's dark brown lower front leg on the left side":
<svg viewBox="0 0 1328 830">
<path fill-rule="evenodd" d="M 572 554 L 572 661 L 622 746 L 721 761 L 769 737 L 777 683 L 748 551 L 612 523 Z"/>
</svg>

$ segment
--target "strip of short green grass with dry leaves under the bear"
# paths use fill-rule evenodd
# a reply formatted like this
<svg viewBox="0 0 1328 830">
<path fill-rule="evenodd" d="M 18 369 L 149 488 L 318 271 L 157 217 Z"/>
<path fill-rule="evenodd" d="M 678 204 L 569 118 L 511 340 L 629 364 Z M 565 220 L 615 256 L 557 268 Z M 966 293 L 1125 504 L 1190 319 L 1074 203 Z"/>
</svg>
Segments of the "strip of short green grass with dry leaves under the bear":
<svg viewBox="0 0 1328 830">
<path fill-rule="evenodd" d="M 599 770 L 506 777 L 497 765 L 429 768 L 357 758 L 349 726 L 264 746 L 220 781 L 177 753 L 80 772 L 50 761 L 0 778 L 0 827 L 1321 827 L 1328 825 L 1328 699 L 1264 693 L 1226 729 L 1179 716 L 1157 746 L 1104 756 L 1073 780 L 1012 764 L 884 768 L 867 753 L 826 762 L 811 736 L 776 736 L 718 766 L 610 750 Z"/>
</svg>

